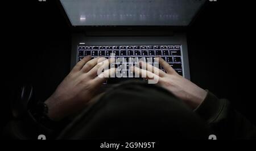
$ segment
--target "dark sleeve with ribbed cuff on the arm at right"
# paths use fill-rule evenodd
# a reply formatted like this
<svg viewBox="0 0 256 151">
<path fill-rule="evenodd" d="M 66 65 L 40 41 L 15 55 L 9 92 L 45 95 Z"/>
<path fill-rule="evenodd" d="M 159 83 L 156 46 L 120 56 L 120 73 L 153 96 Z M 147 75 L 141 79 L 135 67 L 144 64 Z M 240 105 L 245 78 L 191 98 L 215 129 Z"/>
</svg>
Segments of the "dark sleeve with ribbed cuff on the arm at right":
<svg viewBox="0 0 256 151">
<path fill-rule="evenodd" d="M 217 139 L 256 139 L 256 127 L 228 100 L 218 99 L 209 91 L 195 113 L 210 124 Z"/>
</svg>

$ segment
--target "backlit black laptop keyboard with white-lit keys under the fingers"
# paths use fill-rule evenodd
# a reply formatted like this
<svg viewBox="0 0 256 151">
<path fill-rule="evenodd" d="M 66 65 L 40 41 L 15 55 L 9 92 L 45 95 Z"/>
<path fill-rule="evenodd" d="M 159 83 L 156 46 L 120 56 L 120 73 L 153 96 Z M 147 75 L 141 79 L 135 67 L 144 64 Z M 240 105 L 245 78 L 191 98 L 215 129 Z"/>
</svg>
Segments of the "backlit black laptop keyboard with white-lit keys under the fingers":
<svg viewBox="0 0 256 151">
<path fill-rule="evenodd" d="M 108 46 L 77 46 L 77 62 L 81 61 L 86 55 L 92 55 L 92 59 L 96 57 L 110 58 L 114 54 L 115 59 L 123 58 L 125 62 L 129 62 L 129 58 L 143 59 L 143 61 L 152 60 L 160 56 L 170 64 L 174 70 L 183 75 L 182 55 L 180 45 L 108 45 Z M 164 69 L 159 66 L 160 70 Z M 127 68 L 129 71 L 129 68 Z M 165 72 L 165 71 L 164 71 Z M 127 77 L 129 72 L 127 72 Z"/>
</svg>

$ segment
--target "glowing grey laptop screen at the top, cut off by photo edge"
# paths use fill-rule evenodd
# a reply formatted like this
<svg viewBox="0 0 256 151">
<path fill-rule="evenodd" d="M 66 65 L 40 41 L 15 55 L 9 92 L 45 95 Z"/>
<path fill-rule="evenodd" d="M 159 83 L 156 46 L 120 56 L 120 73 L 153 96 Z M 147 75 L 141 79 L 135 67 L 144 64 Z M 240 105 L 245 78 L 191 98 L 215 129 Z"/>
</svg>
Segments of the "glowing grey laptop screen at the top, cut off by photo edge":
<svg viewBox="0 0 256 151">
<path fill-rule="evenodd" d="M 60 0 L 73 26 L 187 26 L 206 0 Z"/>
</svg>

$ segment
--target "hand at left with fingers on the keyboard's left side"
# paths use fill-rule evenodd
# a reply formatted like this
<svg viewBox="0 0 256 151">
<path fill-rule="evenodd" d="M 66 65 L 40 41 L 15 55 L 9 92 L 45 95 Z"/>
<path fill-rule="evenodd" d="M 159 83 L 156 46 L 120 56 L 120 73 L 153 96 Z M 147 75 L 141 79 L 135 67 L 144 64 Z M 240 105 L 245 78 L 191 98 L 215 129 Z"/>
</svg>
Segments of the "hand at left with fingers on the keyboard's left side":
<svg viewBox="0 0 256 151">
<path fill-rule="evenodd" d="M 77 63 L 45 102 L 49 109 L 48 117 L 52 120 L 61 120 L 83 109 L 106 80 L 105 77 L 115 73 L 115 68 L 110 68 L 98 75 L 98 69 L 108 67 L 110 60 L 90 59 L 91 57 L 87 56 Z"/>
</svg>

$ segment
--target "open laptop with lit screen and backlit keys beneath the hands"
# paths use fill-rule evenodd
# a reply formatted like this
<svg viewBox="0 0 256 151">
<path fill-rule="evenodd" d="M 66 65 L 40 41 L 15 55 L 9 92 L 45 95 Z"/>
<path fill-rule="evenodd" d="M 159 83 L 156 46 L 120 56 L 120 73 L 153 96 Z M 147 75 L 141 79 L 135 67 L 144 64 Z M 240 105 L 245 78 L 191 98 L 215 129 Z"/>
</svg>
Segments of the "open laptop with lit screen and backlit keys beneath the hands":
<svg viewBox="0 0 256 151">
<path fill-rule="evenodd" d="M 72 27 L 71 68 L 86 55 L 115 59 L 162 57 L 190 79 L 187 27 L 205 1 L 197 0 L 60 0 Z M 160 67 L 164 71 L 164 68 Z M 133 77 L 127 67 L 119 79 Z M 106 81 L 115 83 L 119 79 Z M 111 82 L 110 82 L 111 81 Z"/>
</svg>

